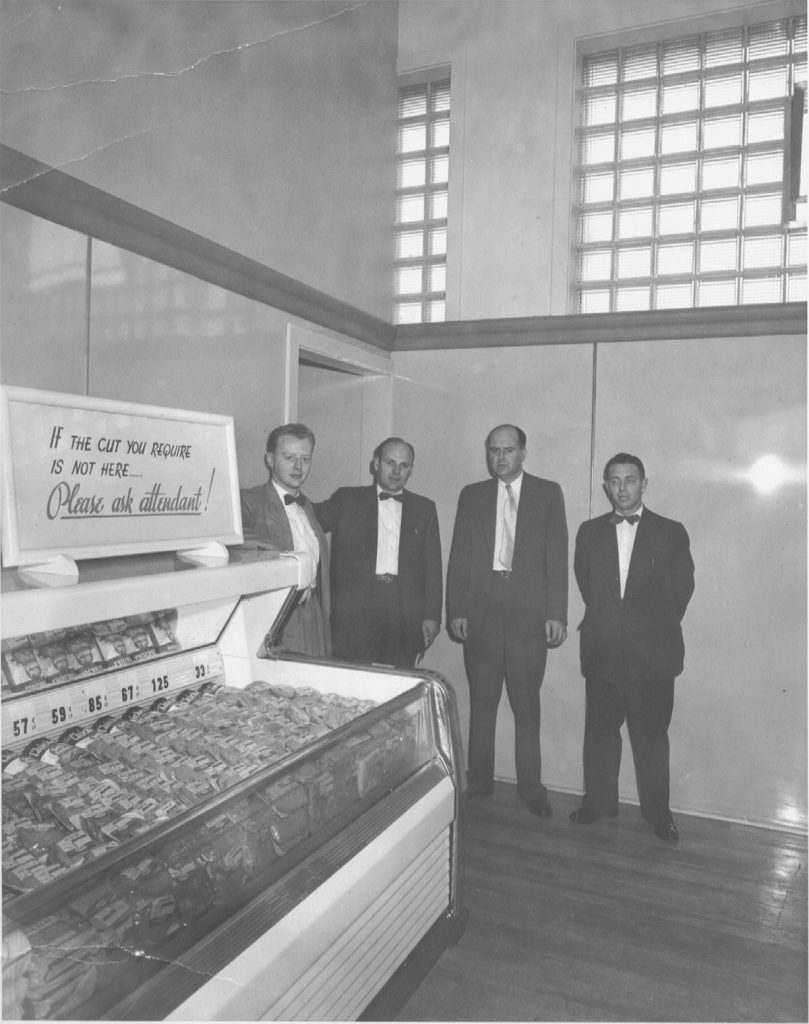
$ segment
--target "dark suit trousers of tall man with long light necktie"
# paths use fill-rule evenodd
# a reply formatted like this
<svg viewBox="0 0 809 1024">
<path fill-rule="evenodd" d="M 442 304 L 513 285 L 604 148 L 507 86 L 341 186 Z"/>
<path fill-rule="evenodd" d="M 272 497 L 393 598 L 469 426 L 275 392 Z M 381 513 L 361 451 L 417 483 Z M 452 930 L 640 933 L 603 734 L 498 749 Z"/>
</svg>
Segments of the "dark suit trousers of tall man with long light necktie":
<svg viewBox="0 0 809 1024">
<path fill-rule="evenodd" d="M 496 577 L 486 615 L 466 641 L 469 681 L 469 788 L 488 793 L 495 779 L 498 707 L 506 683 L 514 713 L 517 792 L 523 800 L 544 801 L 540 754 L 540 686 L 548 656 L 545 624 L 541 635 L 518 633 L 513 625 L 511 578 Z"/>
</svg>

